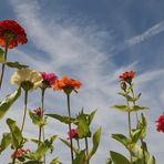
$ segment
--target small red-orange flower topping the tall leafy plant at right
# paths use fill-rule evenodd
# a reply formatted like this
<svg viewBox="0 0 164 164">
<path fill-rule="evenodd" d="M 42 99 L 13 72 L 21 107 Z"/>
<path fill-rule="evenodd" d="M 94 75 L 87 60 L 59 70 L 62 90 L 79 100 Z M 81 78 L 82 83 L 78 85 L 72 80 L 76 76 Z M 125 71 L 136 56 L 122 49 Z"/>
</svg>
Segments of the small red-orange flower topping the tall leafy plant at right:
<svg viewBox="0 0 164 164">
<path fill-rule="evenodd" d="M 121 82 L 127 82 L 131 84 L 133 78 L 135 76 L 135 72 L 134 71 L 130 71 L 130 72 L 124 72 L 122 75 L 120 75 L 120 81 Z"/>
</svg>

